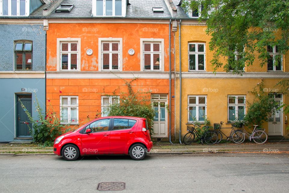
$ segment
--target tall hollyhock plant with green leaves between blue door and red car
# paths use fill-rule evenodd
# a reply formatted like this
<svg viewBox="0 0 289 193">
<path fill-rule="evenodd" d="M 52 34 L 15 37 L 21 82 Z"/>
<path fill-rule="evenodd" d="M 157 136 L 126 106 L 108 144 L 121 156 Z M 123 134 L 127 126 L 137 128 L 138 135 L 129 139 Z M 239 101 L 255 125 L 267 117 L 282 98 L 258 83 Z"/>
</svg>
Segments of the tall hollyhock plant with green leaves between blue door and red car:
<svg viewBox="0 0 289 193">
<path fill-rule="evenodd" d="M 50 114 L 43 113 L 43 109 L 39 104 L 36 94 L 35 98 L 36 101 L 34 102 L 34 105 L 38 113 L 37 120 L 33 119 L 32 115 L 26 109 L 21 100 L 18 99 L 18 101 L 20 102 L 21 107 L 28 116 L 29 121 L 32 123 L 32 128 L 30 128 L 29 123 L 26 124 L 28 125 L 30 133 L 32 134 L 33 142 L 42 144 L 44 146 L 52 146 L 56 137 L 68 132 L 70 129 L 67 129 L 68 125 L 60 125 L 60 121 L 57 118 L 56 112 L 53 109 L 53 112 L 51 112 Z"/>
</svg>

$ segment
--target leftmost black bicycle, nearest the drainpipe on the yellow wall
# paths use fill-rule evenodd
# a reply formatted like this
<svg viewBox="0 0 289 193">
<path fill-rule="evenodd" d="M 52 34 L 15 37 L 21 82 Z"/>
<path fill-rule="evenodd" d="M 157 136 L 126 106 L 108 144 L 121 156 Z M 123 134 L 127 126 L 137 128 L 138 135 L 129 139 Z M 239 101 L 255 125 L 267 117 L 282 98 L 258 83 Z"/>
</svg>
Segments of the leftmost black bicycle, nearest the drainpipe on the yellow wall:
<svg viewBox="0 0 289 193">
<path fill-rule="evenodd" d="M 197 136 L 197 138 L 201 141 L 201 143 L 203 144 L 203 141 L 205 141 L 206 144 L 208 145 L 213 145 L 218 141 L 218 135 L 216 133 L 216 131 L 211 131 L 211 130 L 207 130 L 209 128 L 209 126 L 204 126 L 203 128 L 205 128 L 205 132 L 204 134 L 199 134 L 197 132 L 197 130 L 195 129 L 195 126 L 197 126 L 198 128 L 200 127 L 199 125 L 195 125 L 193 123 L 194 127 L 188 125 L 187 126 L 187 131 L 188 133 L 185 134 L 184 138 L 183 138 L 183 142 L 186 145 L 191 144 L 194 139 L 195 136 Z"/>
</svg>

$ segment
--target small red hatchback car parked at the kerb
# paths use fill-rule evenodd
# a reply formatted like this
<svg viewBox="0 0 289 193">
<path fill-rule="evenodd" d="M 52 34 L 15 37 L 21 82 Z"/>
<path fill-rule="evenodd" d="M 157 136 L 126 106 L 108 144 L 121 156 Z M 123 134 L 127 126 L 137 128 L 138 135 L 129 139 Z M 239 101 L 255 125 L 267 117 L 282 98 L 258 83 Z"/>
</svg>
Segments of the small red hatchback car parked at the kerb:
<svg viewBox="0 0 289 193">
<path fill-rule="evenodd" d="M 54 141 L 54 154 L 73 161 L 87 155 L 130 155 L 142 160 L 153 147 L 147 119 L 110 116 L 94 119 Z"/>
</svg>

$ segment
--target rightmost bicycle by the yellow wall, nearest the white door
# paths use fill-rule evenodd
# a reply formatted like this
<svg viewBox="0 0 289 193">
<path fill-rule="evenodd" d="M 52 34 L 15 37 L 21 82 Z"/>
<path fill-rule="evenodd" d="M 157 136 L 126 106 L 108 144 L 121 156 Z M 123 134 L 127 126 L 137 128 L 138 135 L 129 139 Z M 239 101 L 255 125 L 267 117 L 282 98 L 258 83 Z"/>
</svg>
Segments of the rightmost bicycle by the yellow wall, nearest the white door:
<svg viewBox="0 0 289 193">
<path fill-rule="evenodd" d="M 246 122 L 247 123 L 247 122 Z M 253 141 L 256 143 L 256 144 L 263 144 L 267 141 L 268 139 L 268 135 L 267 133 L 265 132 L 265 129 L 257 129 L 257 127 L 259 125 L 253 125 L 254 126 L 254 129 L 253 129 L 253 132 L 252 134 L 248 133 L 245 128 L 244 128 L 244 123 L 242 124 L 242 129 L 241 131 L 243 132 L 244 134 L 244 138 L 242 139 L 243 141 L 241 143 L 243 143 L 245 141 L 245 135 L 250 139 L 253 139 Z"/>
</svg>

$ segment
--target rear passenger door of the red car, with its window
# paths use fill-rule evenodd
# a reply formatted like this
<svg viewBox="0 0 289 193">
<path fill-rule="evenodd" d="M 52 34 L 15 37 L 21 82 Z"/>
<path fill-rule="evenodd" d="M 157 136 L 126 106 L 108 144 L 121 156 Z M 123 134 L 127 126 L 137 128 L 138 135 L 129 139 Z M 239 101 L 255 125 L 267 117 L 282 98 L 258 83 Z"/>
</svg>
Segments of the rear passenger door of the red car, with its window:
<svg viewBox="0 0 289 193">
<path fill-rule="evenodd" d="M 135 139 L 137 119 L 114 118 L 110 131 L 110 153 L 125 153 L 127 146 Z"/>
</svg>

